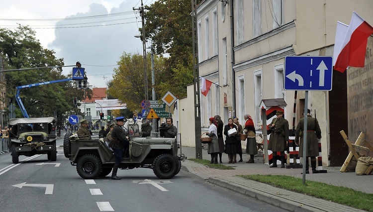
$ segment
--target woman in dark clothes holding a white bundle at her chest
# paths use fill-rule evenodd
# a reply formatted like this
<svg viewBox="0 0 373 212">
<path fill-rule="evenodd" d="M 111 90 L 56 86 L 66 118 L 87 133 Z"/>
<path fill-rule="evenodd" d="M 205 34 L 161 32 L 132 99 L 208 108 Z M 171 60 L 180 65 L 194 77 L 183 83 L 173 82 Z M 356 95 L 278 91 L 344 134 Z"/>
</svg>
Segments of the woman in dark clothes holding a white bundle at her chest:
<svg viewBox="0 0 373 212">
<path fill-rule="evenodd" d="M 236 134 L 229 134 L 228 131 L 231 129 L 236 129 L 237 134 L 237 126 L 233 123 L 233 118 L 228 118 L 228 124 L 224 127 L 224 135 L 225 138 L 225 153 L 228 154 L 228 163 L 236 163 L 236 156 L 237 156 L 237 138 Z"/>
</svg>

